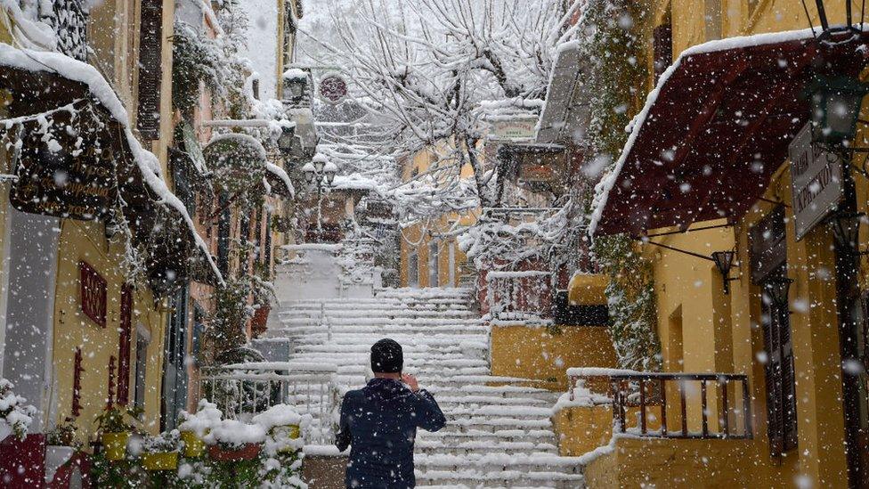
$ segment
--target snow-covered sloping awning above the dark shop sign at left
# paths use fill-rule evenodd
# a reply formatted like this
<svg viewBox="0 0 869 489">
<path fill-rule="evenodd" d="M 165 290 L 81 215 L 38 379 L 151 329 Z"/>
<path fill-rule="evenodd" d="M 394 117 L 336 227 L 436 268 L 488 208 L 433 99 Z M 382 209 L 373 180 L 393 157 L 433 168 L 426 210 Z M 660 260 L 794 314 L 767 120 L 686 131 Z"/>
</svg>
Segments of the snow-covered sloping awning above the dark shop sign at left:
<svg viewBox="0 0 869 489">
<path fill-rule="evenodd" d="M 82 101 L 104 114 L 102 130 L 117 160 L 117 192 L 126 203 L 134 244 L 149 250 L 148 273 L 155 291 L 169 289 L 196 271 L 201 271 L 203 281 L 223 283 L 190 214 L 160 175 L 159 160 L 135 138 L 123 103 L 97 69 L 61 53 L 0 43 L 0 88 L 12 94 L 6 106 L 12 117 L 4 121 L 7 128 L 15 118 L 33 118 L 63 106 L 74 116 Z"/>
</svg>

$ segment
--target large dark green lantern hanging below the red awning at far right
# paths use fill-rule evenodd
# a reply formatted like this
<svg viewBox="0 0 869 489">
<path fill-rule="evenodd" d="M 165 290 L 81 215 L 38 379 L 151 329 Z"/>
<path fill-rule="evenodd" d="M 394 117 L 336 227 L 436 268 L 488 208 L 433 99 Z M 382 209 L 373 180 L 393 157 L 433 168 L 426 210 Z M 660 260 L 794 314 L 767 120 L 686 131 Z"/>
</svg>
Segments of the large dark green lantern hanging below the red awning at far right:
<svg viewBox="0 0 869 489">
<path fill-rule="evenodd" d="M 812 140 L 844 146 L 857 134 L 857 118 L 869 84 L 855 77 L 821 77 L 808 87 L 811 105 Z"/>
</svg>

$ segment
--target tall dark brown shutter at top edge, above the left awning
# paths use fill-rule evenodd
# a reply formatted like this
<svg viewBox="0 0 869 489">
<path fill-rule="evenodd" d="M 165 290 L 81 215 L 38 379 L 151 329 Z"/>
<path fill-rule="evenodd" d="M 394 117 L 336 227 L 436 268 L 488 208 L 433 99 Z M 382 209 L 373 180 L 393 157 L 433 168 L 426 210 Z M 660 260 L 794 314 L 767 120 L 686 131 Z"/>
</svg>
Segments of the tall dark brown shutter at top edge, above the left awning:
<svg viewBox="0 0 869 489">
<path fill-rule="evenodd" d="M 162 0 L 142 0 L 139 28 L 139 107 L 136 127 L 147 140 L 160 137 Z"/>
</svg>

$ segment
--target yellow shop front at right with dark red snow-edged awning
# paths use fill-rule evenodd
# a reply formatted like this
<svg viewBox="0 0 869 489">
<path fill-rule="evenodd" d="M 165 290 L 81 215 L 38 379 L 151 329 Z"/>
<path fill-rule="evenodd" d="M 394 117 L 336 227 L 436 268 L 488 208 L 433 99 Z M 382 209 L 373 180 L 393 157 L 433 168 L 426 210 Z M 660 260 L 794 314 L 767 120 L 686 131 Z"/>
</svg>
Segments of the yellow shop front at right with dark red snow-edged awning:
<svg viewBox="0 0 869 489">
<path fill-rule="evenodd" d="M 662 418 L 681 429 L 619 442 L 644 460 L 676 453 L 675 469 L 628 462 L 605 473 L 611 457 L 589 466 L 589 484 L 672 482 L 695 455 L 730 452 L 737 442 L 719 438 L 742 423 L 740 454 L 694 467 L 695 480 L 869 484 L 858 251 L 867 181 L 853 142 L 864 131 L 833 140 L 837 123 L 818 111 L 818 97 L 850 94 L 840 83 L 859 80 L 869 37 L 819 32 L 688 48 L 600 183 L 592 232 L 635 237 L 653 264 L 664 370 L 680 385 L 721 377 L 700 381 L 702 399 L 662 387 Z M 729 375 L 744 375 L 748 390 L 722 382 Z"/>
</svg>

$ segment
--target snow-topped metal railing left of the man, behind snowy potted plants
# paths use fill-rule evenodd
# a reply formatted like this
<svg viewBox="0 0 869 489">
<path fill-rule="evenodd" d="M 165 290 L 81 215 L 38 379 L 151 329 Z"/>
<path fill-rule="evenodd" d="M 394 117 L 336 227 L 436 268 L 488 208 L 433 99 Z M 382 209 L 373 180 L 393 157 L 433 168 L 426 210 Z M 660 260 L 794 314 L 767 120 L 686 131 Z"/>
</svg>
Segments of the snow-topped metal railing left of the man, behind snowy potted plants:
<svg viewBox="0 0 869 489">
<path fill-rule="evenodd" d="M 340 399 L 334 365 L 291 362 L 236 363 L 202 367 L 198 399 L 217 404 L 223 416 L 249 421 L 277 404 L 288 404 L 312 422 L 303 433 L 305 444 L 335 442 L 335 410 Z"/>
</svg>

